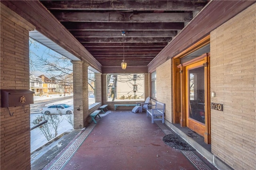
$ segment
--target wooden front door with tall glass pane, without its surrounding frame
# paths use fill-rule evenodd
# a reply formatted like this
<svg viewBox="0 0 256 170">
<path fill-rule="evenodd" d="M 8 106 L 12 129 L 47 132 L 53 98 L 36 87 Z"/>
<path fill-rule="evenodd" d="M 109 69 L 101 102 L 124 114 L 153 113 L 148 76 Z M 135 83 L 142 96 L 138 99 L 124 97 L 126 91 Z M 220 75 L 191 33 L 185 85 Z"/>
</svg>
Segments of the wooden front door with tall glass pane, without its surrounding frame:
<svg viewBox="0 0 256 170">
<path fill-rule="evenodd" d="M 186 126 L 204 136 L 205 132 L 205 74 L 204 60 L 185 67 Z"/>
</svg>

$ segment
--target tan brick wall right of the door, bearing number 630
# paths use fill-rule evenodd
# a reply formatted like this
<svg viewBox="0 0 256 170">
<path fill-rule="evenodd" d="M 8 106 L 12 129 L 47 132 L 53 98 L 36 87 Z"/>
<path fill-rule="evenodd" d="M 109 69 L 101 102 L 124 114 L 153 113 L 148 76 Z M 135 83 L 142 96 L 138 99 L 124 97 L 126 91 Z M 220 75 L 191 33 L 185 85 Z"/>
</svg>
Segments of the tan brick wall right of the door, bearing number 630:
<svg viewBox="0 0 256 170">
<path fill-rule="evenodd" d="M 234 169 L 256 167 L 256 4 L 210 34 L 212 153 Z"/>
</svg>

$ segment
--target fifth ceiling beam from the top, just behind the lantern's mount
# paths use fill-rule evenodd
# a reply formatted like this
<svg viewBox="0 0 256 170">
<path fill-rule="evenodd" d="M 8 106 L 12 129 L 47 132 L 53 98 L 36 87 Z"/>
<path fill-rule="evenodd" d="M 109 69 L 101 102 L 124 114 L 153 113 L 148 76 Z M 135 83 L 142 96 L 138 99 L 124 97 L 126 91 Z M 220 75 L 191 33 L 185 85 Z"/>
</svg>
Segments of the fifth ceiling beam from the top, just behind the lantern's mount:
<svg viewBox="0 0 256 170">
<path fill-rule="evenodd" d="M 147 37 L 147 38 L 77 38 L 77 40 L 81 43 L 84 42 L 170 42 L 172 41 L 171 37 Z M 124 46 L 126 46 L 124 43 Z"/>
</svg>

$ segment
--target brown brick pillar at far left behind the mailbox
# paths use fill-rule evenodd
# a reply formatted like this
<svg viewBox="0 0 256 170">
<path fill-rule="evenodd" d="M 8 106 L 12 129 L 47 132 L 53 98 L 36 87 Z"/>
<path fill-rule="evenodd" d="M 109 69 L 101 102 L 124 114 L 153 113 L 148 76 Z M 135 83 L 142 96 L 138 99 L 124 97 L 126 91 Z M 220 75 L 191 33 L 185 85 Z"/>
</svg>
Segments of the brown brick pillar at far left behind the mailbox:
<svg viewBox="0 0 256 170">
<path fill-rule="evenodd" d="M 18 23 L 18 24 L 17 24 Z M 28 28 L 33 26 L 1 4 L 0 88 L 29 89 Z M 1 108 L 1 169 L 30 169 L 30 105 Z"/>
</svg>

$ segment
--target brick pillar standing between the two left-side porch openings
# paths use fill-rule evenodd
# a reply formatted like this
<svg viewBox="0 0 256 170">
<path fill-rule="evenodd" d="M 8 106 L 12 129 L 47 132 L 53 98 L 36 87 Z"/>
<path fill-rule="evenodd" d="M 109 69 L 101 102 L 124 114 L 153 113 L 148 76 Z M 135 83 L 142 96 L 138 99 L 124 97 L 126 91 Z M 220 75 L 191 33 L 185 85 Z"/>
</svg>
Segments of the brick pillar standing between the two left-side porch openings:
<svg viewBox="0 0 256 170">
<path fill-rule="evenodd" d="M 74 128 L 84 128 L 88 110 L 88 63 L 72 61 L 74 86 Z"/>
</svg>

